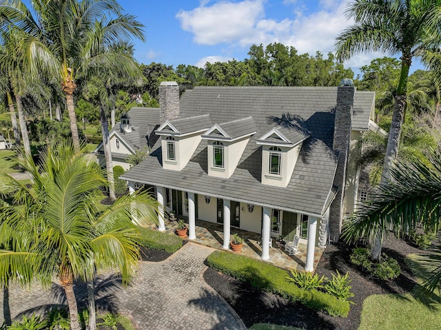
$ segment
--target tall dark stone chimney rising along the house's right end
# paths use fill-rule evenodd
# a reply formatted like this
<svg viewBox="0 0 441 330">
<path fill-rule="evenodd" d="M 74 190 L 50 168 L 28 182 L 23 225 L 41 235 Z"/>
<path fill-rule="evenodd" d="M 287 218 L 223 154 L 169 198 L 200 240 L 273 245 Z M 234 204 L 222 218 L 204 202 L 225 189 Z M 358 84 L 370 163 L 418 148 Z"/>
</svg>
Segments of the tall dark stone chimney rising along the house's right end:
<svg viewBox="0 0 441 330">
<path fill-rule="evenodd" d="M 342 231 L 343 203 L 345 198 L 347 162 L 352 130 L 353 98 L 356 88 L 351 79 L 343 79 L 337 91 L 336 118 L 334 121 L 333 149 L 338 152 L 334 186 L 338 193 L 329 212 L 329 237 L 338 240 Z"/>
</svg>

